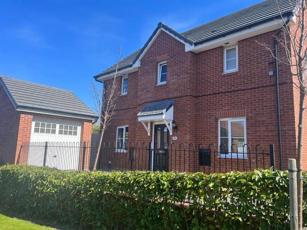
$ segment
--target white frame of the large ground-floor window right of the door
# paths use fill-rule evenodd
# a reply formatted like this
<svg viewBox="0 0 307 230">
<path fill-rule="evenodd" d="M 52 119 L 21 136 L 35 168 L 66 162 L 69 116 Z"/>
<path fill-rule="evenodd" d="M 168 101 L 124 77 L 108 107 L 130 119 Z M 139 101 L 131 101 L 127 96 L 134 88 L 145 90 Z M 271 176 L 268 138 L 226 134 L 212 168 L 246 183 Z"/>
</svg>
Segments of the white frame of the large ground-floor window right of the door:
<svg viewBox="0 0 307 230">
<path fill-rule="evenodd" d="M 247 136 L 246 136 L 246 117 L 227 117 L 220 118 L 218 120 L 219 123 L 219 151 L 221 144 L 221 133 L 220 133 L 220 121 L 228 121 L 228 152 L 231 152 L 231 121 L 244 121 L 244 144 L 247 144 Z M 220 154 L 221 158 L 239 158 L 239 159 L 247 159 L 247 146 L 244 146 L 244 153 L 228 153 L 228 154 Z"/>
</svg>

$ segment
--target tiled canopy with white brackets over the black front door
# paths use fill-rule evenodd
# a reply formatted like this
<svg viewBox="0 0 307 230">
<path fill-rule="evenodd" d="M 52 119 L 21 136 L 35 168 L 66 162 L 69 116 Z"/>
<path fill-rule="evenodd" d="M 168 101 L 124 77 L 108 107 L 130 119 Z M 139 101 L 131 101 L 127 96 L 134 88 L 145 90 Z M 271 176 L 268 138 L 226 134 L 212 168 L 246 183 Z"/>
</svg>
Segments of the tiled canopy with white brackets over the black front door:
<svg viewBox="0 0 307 230">
<path fill-rule="evenodd" d="M 147 104 L 144 109 L 138 113 L 138 121 L 142 122 L 148 136 L 150 136 L 150 123 L 152 121 L 164 121 L 166 127 L 169 129 L 169 135 L 173 135 L 173 106 L 174 101 L 154 102 Z"/>
</svg>

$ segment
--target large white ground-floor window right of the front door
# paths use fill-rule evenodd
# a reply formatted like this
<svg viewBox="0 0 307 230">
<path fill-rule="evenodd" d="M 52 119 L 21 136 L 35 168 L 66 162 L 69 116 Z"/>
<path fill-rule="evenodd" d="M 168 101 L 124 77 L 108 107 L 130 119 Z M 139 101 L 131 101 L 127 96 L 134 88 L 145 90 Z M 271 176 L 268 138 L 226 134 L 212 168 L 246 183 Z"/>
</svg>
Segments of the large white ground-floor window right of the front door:
<svg viewBox="0 0 307 230">
<path fill-rule="evenodd" d="M 246 118 L 219 119 L 220 157 L 247 158 Z"/>
</svg>

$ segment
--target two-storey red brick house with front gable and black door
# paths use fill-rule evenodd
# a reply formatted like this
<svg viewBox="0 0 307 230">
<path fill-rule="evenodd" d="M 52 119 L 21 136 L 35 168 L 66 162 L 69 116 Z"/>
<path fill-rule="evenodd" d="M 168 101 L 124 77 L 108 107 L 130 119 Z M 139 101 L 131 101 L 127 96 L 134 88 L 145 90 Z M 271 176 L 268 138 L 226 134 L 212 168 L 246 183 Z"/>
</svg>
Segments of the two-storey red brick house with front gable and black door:
<svg viewBox="0 0 307 230">
<path fill-rule="evenodd" d="M 285 21 L 291 19 L 289 1 L 279 4 Z M 279 63 L 276 68 L 259 44 L 273 47 L 273 35 L 280 29 L 276 20 L 281 20 L 276 2 L 267 0 L 183 33 L 160 22 L 144 47 L 119 63 L 121 96 L 104 141 L 115 142 L 117 149 L 124 142 L 151 142 L 151 148 L 214 143 L 219 151 L 237 152 L 240 164 L 249 161 L 242 153 L 247 151 L 244 144 L 253 151 L 262 144 L 265 152 L 274 144 L 276 168 L 282 156 L 286 169 L 287 159 L 296 158 L 299 92 L 289 84 L 294 78 L 290 67 Z M 279 45 L 278 55 L 284 54 Z M 94 78 L 108 85 L 115 69 L 113 65 Z M 306 156 L 304 149 L 304 170 Z"/>
</svg>

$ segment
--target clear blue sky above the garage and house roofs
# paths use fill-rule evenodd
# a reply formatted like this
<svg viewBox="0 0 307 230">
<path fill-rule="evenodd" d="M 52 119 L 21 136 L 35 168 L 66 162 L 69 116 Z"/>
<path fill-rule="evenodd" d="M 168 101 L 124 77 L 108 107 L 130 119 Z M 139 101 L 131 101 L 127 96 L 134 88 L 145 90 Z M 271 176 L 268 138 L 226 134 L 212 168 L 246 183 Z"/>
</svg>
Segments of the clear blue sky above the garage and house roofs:
<svg viewBox="0 0 307 230">
<path fill-rule="evenodd" d="M 159 21 L 184 32 L 258 2 L 0 1 L 0 75 L 72 90 L 93 108 L 89 82 L 120 44 L 127 56 Z"/>
</svg>

